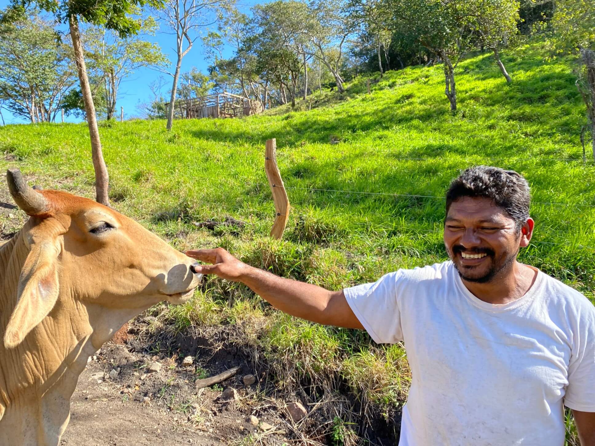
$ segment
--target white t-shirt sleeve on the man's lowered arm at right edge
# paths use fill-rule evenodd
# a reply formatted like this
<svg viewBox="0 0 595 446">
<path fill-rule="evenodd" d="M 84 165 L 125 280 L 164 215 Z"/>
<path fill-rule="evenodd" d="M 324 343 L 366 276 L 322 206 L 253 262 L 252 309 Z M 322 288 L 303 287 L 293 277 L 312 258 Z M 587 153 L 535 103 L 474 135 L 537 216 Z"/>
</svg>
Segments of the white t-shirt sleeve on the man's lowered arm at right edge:
<svg viewBox="0 0 595 446">
<path fill-rule="evenodd" d="M 588 310 L 578 319 L 577 336 L 572 342 L 564 405 L 595 412 L 595 307 L 591 303 L 586 306 Z"/>
</svg>

